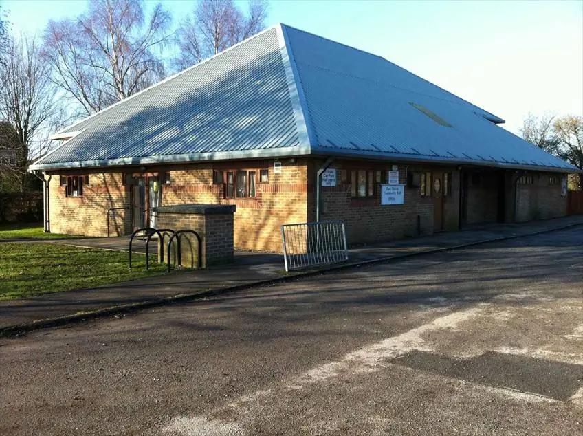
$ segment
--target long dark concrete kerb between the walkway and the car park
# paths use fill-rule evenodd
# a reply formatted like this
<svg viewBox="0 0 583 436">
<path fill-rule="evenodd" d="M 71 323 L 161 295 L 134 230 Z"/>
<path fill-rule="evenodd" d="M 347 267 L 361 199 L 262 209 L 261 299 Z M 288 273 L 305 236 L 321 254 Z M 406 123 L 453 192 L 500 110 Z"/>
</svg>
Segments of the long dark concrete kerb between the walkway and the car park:
<svg viewBox="0 0 583 436">
<path fill-rule="evenodd" d="M 3 337 L 14 337 L 21 336 L 22 334 L 28 333 L 29 331 L 34 331 L 38 329 L 45 329 L 50 327 L 61 327 L 63 325 L 73 324 L 73 323 L 83 323 L 85 321 L 93 320 L 96 318 L 102 318 L 104 316 L 115 316 L 120 314 L 129 314 L 133 312 L 138 312 L 143 309 L 149 309 L 152 307 L 159 307 L 164 305 L 170 305 L 173 303 L 181 303 L 184 301 L 196 301 L 202 300 L 204 298 L 209 298 L 212 296 L 219 296 L 224 294 L 230 294 L 236 291 L 248 290 L 254 287 L 275 285 L 278 283 L 285 283 L 288 281 L 294 281 L 297 279 L 304 279 L 311 276 L 316 276 L 319 274 L 326 274 L 329 272 L 336 272 L 340 270 L 347 270 L 349 268 L 356 268 L 366 265 L 374 265 L 376 263 L 384 263 L 390 261 L 399 261 L 401 259 L 408 259 L 410 257 L 418 257 L 426 254 L 434 254 L 438 252 L 447 252 L 452 250 L 459 250 L 461 248 L 467 248 L 472 246 L 479 246 L 485 243 L 508 241 L 510 239 L 518 239 L 522 237 L 543 235 L 544 233 L 556 232 L 558 230 L 566 230 L 567 228 L 583 226 L 581 223 L 568 224 L 566 226 L 560 226 L 556 228 L 547 228 L 544 230 L 538 230 L 536 232 L 525 233 L 522 235 L 508 235 L 503 237 L 482 239 L 480 241 L 473 241 L 468 243 L 462 243 L 456 246 L 449 247 L 439 247 L 432 248 L 430 250 L 421 250 L 418 252 L 395 254 L 392 256 L 379 257 L 377 259 L 370 259 L 367 261 L 357 261 L 342 263 L 340 265 L 332 265 L 325 268 L 318 268 L 315 270 L 308 270 L 304 272 L 295 272 L 287 276 L 276 277 L 274 279 L 266 279 L 260 281 L 254 281 L 250 283 L 245 283 L 243 285 L 234 285 L 228 287 L 215 288 L 211 290 L 199 290 L 197 292 L 190 292 L 188 294 L 178 294 L 163 298 L 154 298 L 148 301 L 142 301 L 140 303 L 131 303 L 127 305 L 116 305 L 111 307 L 104 307 L 102 309 L 96 309 L 88 312 L 80 312 L 72 315 L 58 316 L 56 318 L 46 318 L 42 320 L 35 320 L 31 323 L 23 323 L 18 325 L 8 325 L 5 327 L 0 327 L 0 338 Z"/>
</svg>

